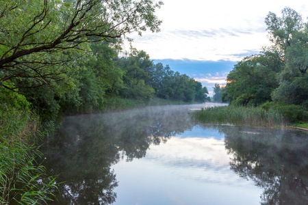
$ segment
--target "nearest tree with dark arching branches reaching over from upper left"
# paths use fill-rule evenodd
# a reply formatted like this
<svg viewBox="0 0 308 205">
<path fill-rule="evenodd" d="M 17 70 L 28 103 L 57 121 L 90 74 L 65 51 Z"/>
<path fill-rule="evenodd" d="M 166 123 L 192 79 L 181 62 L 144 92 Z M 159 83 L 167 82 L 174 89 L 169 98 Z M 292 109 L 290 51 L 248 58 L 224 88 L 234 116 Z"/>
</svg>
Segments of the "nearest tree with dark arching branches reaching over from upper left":
<svg viewBox="0 0 308 205">
<path fill-rule="evenodd" d="M 0 1 L 0 85 L 14 90 L 67 79 L 90 42 L 159 31 L 151 0 Z M 14 88 L 12 88 L 14 87 Z"/>
</svg>

